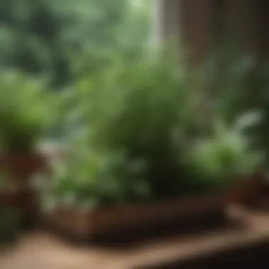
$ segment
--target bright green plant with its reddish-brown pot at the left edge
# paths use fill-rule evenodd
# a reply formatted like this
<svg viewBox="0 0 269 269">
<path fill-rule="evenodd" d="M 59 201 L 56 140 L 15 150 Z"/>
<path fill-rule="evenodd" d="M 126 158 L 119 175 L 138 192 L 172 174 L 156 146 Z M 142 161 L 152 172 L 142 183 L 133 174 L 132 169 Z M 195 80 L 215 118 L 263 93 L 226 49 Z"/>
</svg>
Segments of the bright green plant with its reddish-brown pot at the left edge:
<svg viewBox="0 0 269 269">
<path fill-rule="evenodd" d="M 23 207 L 32 207 L 34 203 L 30 201 L 30 177 L 45 168 L 45 159 L 36 150 L 36 144 L 50 124 L 47 94 L 40 81 L 21 74 L 1 73 L 0 168 L 17 181 Z"/>
</svg>

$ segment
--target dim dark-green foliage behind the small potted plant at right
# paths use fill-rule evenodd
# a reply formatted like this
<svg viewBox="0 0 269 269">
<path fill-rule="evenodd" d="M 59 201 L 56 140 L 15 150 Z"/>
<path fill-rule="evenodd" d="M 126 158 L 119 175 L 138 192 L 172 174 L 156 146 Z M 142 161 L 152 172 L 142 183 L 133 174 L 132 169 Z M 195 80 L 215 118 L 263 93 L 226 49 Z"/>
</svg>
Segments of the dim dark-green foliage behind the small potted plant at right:
<svg viewBox="0 0 269 269">
<path fill-rule="evenodd" d="M 231 125 L 242 114 L 251 110 L 263 113 L 263 118 L 249 135 L 253 143 L 263 149 L 268 163 L 268 63 L 255 53 L 246 52 L 239 40 L 227 40 L 202 67 L 202 85 L 210 100 L 210 113 Z M 265 165 L 264 164 L 264 165 Z M 261 189 L 265 184 L 266 169 L 257 175 Z"/>
</svg>

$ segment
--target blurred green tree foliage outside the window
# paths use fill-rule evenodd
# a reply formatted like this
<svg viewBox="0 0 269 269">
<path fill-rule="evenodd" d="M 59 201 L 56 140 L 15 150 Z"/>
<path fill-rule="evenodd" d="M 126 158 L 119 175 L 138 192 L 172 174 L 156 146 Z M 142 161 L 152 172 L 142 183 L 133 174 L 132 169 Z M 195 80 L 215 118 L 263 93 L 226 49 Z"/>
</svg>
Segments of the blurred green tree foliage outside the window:
<svg viewBox="0 0 269 269">
<path fill-rule="evenodd" d="M 72 78 L 71 59 L 147 39 L 149 2 L 127 0 L 1 0 L 1 68 L 48 76 L 54 86 Z"/>
</svg>

